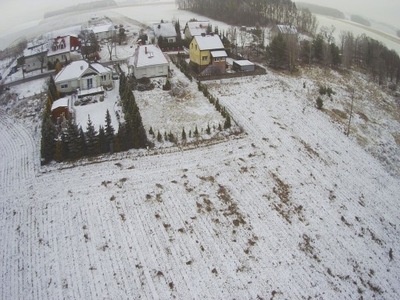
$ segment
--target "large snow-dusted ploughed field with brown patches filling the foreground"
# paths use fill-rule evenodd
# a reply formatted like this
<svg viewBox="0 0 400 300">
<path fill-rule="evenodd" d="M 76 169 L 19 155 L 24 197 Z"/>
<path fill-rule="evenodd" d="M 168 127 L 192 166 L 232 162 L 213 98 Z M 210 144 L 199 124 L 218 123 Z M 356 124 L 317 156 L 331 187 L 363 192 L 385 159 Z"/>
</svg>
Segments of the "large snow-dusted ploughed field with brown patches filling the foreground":
<svg viewBox="0 0 400 300">
<path fill-rule="evenodd" d="M 206 82 L 245 134 L 62 168 L 40 167 L 46 99 L 32 96 L 45 81 L 12 87 L 0 106 L 0 299 L 397 299 L 399 108 L 355 78 Z M 319 84 L 337 93 L 323 110 Z"/>
</svg>

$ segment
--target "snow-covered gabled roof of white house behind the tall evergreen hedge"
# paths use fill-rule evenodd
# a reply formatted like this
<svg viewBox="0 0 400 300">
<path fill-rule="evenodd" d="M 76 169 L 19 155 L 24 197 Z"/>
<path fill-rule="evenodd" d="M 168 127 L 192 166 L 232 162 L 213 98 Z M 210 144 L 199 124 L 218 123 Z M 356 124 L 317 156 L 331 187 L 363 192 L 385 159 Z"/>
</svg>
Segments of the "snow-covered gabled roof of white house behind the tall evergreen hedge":
<svg viewBox="0 0 400 300">
<path fill-rule="evenodd" d="M 107 72 L 111 72 L 109 68 L 102 66 L 101 64 L 94 63 L 90 65 L 85 60 L 78 60 L 70 63 L 69 65 L 62 68 L 60 73 L 56 75 L 54 78 L 55 82 L 64 82 L 69 80 L 74 80 L 80 78 L 86 71 L 90 69 L 94 73 L 104 74 Z"/>
</svg>

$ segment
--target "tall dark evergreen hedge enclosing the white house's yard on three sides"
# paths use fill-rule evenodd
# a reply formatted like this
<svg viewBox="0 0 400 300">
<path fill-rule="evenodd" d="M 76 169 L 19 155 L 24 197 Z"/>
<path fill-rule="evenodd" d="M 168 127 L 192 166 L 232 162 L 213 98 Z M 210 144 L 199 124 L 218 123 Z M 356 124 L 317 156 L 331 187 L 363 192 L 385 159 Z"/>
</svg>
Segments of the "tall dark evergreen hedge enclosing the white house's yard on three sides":
<svg viewBox="0 0 400 300">
<path fill-rule="evenodd" d="M 118 131 L 111 122 L 110 112 L 105 114 L 105 125 L 96 130 L 90 115 L 86 128 L 78 127 L 72 118 L 56 125 L 51 118 L 51 105 L 58 99 L 54 81 L 48 84 L 48 101 L 42 119 L 41 161 L 48 164 L 55 160 L 75 161 L 104 153 L 139 149 L 147 146 L 147 136 L 142 124 L 139 108 L 132 93 L 132 85 L 122 74 L 120 77 L 120 98 L 125 120 L 117 115 Z"/>
</svg>

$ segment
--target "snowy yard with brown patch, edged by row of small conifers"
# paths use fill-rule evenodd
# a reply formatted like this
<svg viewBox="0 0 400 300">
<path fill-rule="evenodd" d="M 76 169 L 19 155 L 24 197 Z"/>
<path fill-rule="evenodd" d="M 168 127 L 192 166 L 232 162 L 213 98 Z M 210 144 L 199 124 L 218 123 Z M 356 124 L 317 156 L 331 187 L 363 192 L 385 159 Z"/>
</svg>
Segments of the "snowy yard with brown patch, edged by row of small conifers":
<svg viewBox="0 0 400 300">
<path fill-rule="evenodd" d="M 189 131 L 193 133 L 197 127 L 200 135 L 205 135 L 209 126 L 214 135 L 219 124 L 224 126 L 225 119 L 197 90 L 196 82 L 189 81 L 175 65 L 171 69 L 171 91 L 162 90 L 165 78 L 159 78 L 153 80 L 154 90 L 134 93 L 146 131 L 152 127 L 155 134 L 171 132 L 180 139 L 183 128 L 189 138 Z"/>
</svg>

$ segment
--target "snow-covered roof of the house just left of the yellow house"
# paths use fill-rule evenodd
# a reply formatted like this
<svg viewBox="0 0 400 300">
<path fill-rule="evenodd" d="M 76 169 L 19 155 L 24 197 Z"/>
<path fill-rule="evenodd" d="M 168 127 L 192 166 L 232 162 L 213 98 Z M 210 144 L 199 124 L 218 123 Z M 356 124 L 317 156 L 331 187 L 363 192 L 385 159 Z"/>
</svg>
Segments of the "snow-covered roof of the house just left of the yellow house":
<svg viewBox="0 0 400 300">
<path fill-rule="evenodd" d="M 155 45 L 139 46 L 130 62 L 136 68 L 168 64 L 164 53 Z"/>
</svg>

